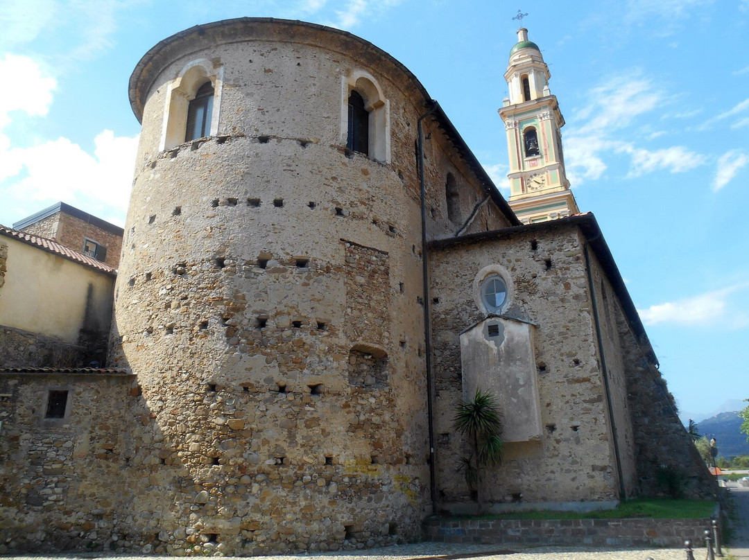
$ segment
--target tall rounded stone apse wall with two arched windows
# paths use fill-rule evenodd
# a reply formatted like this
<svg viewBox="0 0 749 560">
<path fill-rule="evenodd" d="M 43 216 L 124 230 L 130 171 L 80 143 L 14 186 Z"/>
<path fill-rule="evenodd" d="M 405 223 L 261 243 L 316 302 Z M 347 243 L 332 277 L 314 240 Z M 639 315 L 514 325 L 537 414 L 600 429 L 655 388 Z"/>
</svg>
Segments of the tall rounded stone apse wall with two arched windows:
<svg viewBox="0 0 749 560">
<path fill-rule="evenodd" d="M 112 340 L 142 392 L 130 521 L 166 553 L 413 538 L 429 503 L 413 139 L 377 136 L 418 110 L 413 85 L 378 76 L 394 63 L 371 46 L 343 54 L 366 46 L 348 34 L 213 25 L 154 47 L 131 82 L 143 133 Z M 289 30 L 306 42 L 276 40 Z M 170 145 L 201 81 L 205 136 Z M 352 88 L 386 119 L 380 161 L 346 147 Z"/>
</svg>

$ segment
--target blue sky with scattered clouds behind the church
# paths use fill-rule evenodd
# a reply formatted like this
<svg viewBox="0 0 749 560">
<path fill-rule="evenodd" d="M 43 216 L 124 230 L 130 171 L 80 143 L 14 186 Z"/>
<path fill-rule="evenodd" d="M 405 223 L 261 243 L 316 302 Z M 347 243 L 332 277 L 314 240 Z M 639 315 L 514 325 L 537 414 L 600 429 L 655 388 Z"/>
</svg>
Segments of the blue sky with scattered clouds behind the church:
<svg viewBox="0 0 749 560">
<path fill-rule="evenodd" d="M 130 73 L 199 23 L 351 31 L 421 80 L 505 195 L 497 108 L 523 25 L 551 70 L 568 177 L 683 413 L 749 398 L 749 0 L 0 0 L 0 223 L 65 201 L 122 225 Z"/>
</svg>

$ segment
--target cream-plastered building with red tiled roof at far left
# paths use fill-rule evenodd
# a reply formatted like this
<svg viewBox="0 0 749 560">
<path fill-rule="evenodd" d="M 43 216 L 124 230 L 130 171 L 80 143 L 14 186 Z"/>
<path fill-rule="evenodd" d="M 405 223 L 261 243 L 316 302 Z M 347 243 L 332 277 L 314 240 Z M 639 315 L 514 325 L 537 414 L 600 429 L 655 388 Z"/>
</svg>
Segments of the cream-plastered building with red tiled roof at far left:
<svg viewBox="0 0 749 560">
<path fill-rule="evenodd" d="M 0 365 L 102 364 L 114 290 L 109 265 L 0 226 Z"/>
</svg>

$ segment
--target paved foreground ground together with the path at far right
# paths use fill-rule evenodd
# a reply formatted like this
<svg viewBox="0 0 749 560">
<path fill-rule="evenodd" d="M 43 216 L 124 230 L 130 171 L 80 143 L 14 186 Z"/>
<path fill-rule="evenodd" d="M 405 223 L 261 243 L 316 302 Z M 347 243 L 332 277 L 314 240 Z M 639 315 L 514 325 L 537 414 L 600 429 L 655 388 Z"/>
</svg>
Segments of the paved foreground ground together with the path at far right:
<svg viewBox="0 0 749 560">
<path fill-rule="evenodd" d="M 736 501 L 739 513 L 733 526 L 733 542 L 724 547 L 724 554 L 736 560 L 749 560 L 749 487 L 739 487 L 736 483 L 729 487 Z M 702 560 L 704 548 L 694 551 L 695 560 Z M 255 556 L 253 560 L 458 560 L 479 558 L 479 560 L 685 560 L 684 549 L 603 549 L 583 547 L 512 547 L 500 550 L 497 545 L 419 543 L 356 553 L 325 553 L 309 556 Z M 122 559 L 122 560 L 174 560 L 173 557 L 70 554 L 57 556 L 2 556 L 2 559 L 23 560 L 81 560 L 81 559 Z M 733 560 L 732 559 L 732 560 Z"/>
</svg>

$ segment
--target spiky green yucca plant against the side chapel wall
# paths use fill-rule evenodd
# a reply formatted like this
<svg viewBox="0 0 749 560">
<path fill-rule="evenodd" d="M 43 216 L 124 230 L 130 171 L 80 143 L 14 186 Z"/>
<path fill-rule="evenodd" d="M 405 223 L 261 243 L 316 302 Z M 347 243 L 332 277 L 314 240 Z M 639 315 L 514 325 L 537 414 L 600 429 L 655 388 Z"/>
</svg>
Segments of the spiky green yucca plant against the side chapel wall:
<svg viewBox="0 0 749 560">
<path fill-rule="evenodd" d="M 473 453 L 461 457 L 460 470 L 469 488 L 475 484 L 476 504 L 479 514 L 483 514 L 482 466 L 497 466 L 502 462 L 502 420 L 494 395 L 476 388 L 472 400 L 460 401 L 455 407 L 452 425 L 467 436 L 473 447 Z"/>
</svg>

